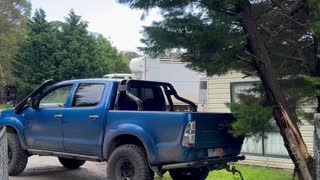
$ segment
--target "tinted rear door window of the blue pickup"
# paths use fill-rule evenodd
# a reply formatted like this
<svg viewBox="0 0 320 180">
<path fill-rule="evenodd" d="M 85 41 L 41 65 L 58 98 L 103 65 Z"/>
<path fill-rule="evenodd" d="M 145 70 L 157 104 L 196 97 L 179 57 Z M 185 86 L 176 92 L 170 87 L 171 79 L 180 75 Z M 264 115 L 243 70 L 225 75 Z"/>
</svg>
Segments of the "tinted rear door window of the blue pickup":
<svg viewBox="0 0 320 180">
<path fill-rule="evenodd" d="M 96 106 L 101 101 L 104 84 L 80 84 L 72 103 L 72 107 Z"/>
</svg>

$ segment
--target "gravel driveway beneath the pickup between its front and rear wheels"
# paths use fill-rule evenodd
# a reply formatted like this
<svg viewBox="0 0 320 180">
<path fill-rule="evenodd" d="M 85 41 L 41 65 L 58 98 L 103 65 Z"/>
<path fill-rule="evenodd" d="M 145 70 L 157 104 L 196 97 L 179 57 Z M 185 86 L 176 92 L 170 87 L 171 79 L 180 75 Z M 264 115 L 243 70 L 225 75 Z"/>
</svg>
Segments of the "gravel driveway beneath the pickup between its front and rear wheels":
<svg viewBox="0 0 320 180">
<path fill-rule="evenodd" d="M 106 163 L 86 162 L 80 169 L 68 170 L 56 157 L 32 156 L 25 171 L 9 180 L 105 180 Z"/>
</svg>

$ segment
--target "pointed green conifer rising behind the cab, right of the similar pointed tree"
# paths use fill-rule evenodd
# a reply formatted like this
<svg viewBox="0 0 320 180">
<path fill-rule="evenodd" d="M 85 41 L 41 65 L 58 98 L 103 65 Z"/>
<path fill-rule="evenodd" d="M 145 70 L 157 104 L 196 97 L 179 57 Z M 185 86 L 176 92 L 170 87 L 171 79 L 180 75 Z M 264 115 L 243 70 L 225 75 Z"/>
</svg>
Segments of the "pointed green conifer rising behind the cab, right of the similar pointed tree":
<svg viewBox="0 0 320 180">
<path fill-rule="evenodd" d="M 73 10 L 65 18 L 59 33 L 59 59 L 58 80 L 92 78 L 99 72 L 96 62 L 97 53 L 95 41 L 87 30 L 88 23 L 81 20 Z"/>
</svg>

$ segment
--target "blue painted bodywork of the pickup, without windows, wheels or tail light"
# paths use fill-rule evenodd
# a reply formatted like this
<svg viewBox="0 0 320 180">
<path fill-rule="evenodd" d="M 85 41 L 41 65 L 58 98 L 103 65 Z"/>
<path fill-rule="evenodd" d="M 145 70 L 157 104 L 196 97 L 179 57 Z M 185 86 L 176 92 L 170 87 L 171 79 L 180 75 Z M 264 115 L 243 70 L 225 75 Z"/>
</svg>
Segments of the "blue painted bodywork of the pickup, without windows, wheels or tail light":
<svg viewBox="0 0 320 180">
<path fill-rule="evenodd" d="M 72 107 L 72 99 L 81 83 L 104 84 L 100 103 L 94 107 Z M 243 138 L 228 134 L 231 114 L 119 111 L 113 110 L 118 82 L 103 79 L 72 80 L 53 85 L 46 92 L 71 85 L 68 100 L 61 108 L 25 108 L 15 114 L 13 109 L 0 115 L 0 127 L 14 128 L 23 148 L 90 155 L 107 160 L 113 141 L 121 135 L 137 137 L 152 165 L 165 165 L 208 159 L 208 148 L 223 148 L 225 156 L 240 153 Z M 43 94 L 45 95 L 46 92 Z M 54 118 L 61 114 L 62 118 Z M 97 119 L 90 119 L 98 115 Z M 196 121 L 196 145 L 182 146 L 185 126 Z"/>
</svg>

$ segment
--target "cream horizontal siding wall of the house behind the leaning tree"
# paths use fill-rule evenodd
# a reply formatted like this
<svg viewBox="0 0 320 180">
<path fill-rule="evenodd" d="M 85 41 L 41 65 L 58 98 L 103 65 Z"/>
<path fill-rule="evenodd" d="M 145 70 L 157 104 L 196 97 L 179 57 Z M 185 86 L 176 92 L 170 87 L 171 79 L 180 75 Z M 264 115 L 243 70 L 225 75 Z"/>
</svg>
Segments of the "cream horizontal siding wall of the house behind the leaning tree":
<svg viewBox="0 0 320 180">
<path fill-rule="evenodd" d="M 231 72 L 224 76 L 213 76 L 208 78 L 208 111 L 209 112 L 230 112 L 226 103 L 231 101 L 230 84 L 234 82 L 259 81 L 255 78 L 243 78 L 241 73 Z M 310 107 L 306 107 L 310 109 Z M 310 153 L 313 151 L 313 125 L 303 121 L 300 131 Z M 241 164 L 293 169 L 293 164 L 289 157 L 267 157 L 246 155 L 246 160 Z"/>
</svg>

